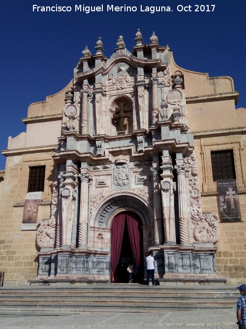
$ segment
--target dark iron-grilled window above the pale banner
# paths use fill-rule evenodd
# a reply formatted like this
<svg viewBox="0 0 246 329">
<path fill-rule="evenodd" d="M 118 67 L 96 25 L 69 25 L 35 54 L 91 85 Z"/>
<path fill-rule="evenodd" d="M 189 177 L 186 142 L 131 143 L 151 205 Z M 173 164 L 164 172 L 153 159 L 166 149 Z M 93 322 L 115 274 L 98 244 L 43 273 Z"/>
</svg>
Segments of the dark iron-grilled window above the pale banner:
<svg viewBox="0 0 246 329">
<path fill-rule="evenodd" d="M 45 166 L 29 168 L 28 192 L 44 191 Z"/>
</svg>

